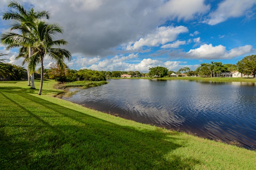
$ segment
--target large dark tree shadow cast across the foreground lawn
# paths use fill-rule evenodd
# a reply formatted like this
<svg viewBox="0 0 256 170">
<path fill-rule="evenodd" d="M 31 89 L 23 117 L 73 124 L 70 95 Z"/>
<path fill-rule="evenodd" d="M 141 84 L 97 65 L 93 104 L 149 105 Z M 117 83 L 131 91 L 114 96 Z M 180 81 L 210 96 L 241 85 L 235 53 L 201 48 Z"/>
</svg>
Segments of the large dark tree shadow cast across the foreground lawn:
<svg viewBox="0 0 256 170">
<path fill-rule="evenodd" d="M 177 144 L 181 139 L 175 132 L 120 126 L 18 91 L 0 91 L 0 100 L 12 107 L 0 113 L 5 121 L 0 169 L 191 169 L 200 164 L 172 153 L 186 145 Z"/>
</svg>

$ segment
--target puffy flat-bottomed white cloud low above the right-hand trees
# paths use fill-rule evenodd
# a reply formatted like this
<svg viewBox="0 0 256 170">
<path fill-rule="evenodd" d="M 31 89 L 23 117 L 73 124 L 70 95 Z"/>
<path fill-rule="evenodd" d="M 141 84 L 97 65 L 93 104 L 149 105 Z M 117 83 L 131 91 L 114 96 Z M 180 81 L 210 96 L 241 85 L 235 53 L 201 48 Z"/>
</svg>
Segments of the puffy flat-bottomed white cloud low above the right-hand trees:
<svg viewBox="0 0 256 170">
<path fill-rule="evenodd" d="M 250 52 L 252 52 L 252 45 L 245 45 L 227 51 L 223 45 L 214 47 L 212 44 L 204 44 L 197 49 L 188 51 L 186 57 L 193 59 L 232 59 Z"/>
</svg>

